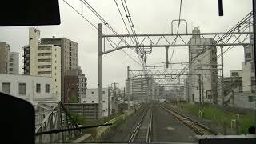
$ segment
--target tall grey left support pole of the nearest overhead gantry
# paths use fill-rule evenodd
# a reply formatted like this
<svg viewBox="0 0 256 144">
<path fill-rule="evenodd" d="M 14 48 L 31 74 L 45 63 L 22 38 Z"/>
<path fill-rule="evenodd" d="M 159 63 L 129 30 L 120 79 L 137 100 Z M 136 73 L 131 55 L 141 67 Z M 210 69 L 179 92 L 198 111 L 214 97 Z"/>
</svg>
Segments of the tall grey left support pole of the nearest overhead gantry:
<svg viewBox="0 0 256 144">
<path fill-rule="evenodd" d="M 98 101 L 102 110 L 102 24 L 98 24 Z M 102 115 L 102 112 L 100 113 Z M 101 117 L 101 116 L 100 116 Z"/>
</svg>

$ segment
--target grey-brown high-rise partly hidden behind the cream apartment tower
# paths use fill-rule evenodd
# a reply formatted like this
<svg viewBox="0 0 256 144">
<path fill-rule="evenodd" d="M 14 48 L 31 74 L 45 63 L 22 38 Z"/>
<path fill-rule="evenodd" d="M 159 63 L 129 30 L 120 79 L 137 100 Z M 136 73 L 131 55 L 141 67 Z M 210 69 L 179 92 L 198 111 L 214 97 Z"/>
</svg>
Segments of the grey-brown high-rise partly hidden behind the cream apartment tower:
<svg viewBox="0 0 256 144">
<path fill-rule="evenodd" d="M 62 102 L 64 102 L 64 77 L 67 70 L 75 70 L 78 67 L 78 43 L 67 38 L 42 38 L 42 44 L 50 44 L 61 47 L 62 69 Z"/>
</svg>

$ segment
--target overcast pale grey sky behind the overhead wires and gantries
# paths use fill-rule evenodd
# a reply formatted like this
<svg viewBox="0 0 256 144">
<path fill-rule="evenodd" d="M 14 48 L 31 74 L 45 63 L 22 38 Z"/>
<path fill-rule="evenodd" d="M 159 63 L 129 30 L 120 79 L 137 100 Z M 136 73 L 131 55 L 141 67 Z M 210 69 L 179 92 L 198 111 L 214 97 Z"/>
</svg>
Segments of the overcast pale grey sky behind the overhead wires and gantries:
<svg viewBox="0 0 256 144">
<path fill-rule="evenodd" d="M 66 0 L 77 10 L 82 12 L 94 25 L 99 20 L 79 0 Z M 225 32 L 241 20 L 251 9 L 251 0 L 223 0 L 224 16 L 218 17 L 218 0 L 183 0 L 181 18 L 188 22 L 188 30 L 199 26 L 202 33 Z M 88 22 L 76 14 L 65 2 L 59 0 L 61 25 L 36 26 L 41 30 L 41 38 L 52 36 L 69 38 L 79 45 L 79 65 L 88 78 L 88 87 L 94 88 L 98 84 L 98 31 Z M 114 0 L 87 0 L 106 21 L 114 27 L 118 34 L 126 34 L 125 26 L 118 14 Z M 119 6 L 121 2 L 117 0 Z M 178 19 L 180 0 L 126 0 L 130 15 L 138 34 L 170 33 L 170 22 Z M 121 7 L 122 8 L 122 7 Z M 29 26 L 0 27 L 0 41 L 10 44 L 10 50 L 21 53 L 22 46 L 28 44 Z M 184 26 L 180 28 L 184 32 Z M 111 34 L 103 27 L 103 32 Z M 110 47 L 108 48 L 110 49 Z M 126 50 L 138 60 L 132 50 Z M 171 52 L 171 49 L 170 49 Z M 148 57 L 148 64 L 160 63 L 165 60 L 164 49 L 153 50 Z M 230 70 L 242 70 L 243 50 L 234 48 L 225 54 L 224 74 Z M 173 62 L 187 62 L 187 48 L 176 49 Z M 21 54 L 20 54 L 21 63 Z M 21 66 L 21 64 L 20 64 Z M 126 56 L 121 50 L 106 54 L 103 57 L 103 86 L 110 86 L 113 82 L 124 86 L 126 67 L 138 69 L 140 66 Z"/>
</svg>

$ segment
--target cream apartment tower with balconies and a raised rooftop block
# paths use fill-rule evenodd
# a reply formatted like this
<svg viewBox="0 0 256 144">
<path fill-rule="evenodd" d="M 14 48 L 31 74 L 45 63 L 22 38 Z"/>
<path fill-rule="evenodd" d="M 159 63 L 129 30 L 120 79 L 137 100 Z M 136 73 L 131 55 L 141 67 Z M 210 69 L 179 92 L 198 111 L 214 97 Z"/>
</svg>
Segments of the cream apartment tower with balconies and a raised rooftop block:
<svg viewBox="0 0 256 144">
<path fill-rule="evenodd" d="M 61 48 L 40 45 L 40 30 L 29 29 L 29 46 L 22 47 L 22 74 L 52 78 L 52 91 L 61 100 Z"/>
</svg>

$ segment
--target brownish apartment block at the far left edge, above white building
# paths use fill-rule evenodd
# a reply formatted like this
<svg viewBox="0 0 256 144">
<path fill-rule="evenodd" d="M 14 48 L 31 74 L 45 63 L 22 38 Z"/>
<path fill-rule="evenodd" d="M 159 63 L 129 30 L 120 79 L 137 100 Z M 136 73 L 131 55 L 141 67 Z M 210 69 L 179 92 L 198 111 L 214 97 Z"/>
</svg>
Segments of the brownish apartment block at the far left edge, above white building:
<svg viewBox="0 0 256 144">
<path fill-rule="evenodd" d="M 17 52 L 11 52 L 6 42 L 0 42 L 0 73 L 18 74 L 18 59 Z"/>
</svg>

